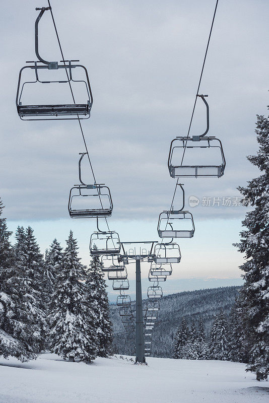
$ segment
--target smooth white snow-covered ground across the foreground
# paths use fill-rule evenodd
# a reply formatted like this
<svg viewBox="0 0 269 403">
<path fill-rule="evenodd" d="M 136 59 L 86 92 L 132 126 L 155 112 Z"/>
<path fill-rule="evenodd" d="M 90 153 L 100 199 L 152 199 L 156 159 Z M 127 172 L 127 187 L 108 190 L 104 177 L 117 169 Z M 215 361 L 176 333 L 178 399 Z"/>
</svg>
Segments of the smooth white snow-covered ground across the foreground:
<svg viewBox="0 0 269 403">
<path fill-rule="evenodd" d="M 0 359 L 0 403 L 268 403 L 267 382 L 240 363 L 148 358 L 71 363 L 54 354 Z"/>
</svg>

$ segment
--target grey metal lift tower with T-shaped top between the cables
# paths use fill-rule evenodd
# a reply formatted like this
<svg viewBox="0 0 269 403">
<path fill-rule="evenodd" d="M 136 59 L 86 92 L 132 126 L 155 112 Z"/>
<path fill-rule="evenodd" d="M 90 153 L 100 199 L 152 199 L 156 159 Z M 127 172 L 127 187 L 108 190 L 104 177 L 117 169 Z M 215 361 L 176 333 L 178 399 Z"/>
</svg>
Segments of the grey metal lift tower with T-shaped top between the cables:
<svg viewBox="0 0 269 403">
<path fill-rule="evenodd" d="M 123 258 L 136 260 L 136 363 L 146 362 L 141 286 L 141 261 L 147 260 L 152 262 L 154 260 L 155 255 L 153 254 L 153 246 L 155 243 L 157 243 L 157 241 L 121 242 L 123 254 L 119 256 L 119 260 L 122 261 Z"/>
</svg>

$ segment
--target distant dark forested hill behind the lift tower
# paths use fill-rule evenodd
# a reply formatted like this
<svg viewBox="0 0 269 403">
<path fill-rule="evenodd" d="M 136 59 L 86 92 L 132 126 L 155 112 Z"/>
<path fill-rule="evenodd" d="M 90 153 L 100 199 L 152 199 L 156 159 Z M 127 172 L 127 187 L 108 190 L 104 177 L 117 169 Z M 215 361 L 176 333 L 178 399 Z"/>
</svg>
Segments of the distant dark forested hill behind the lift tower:
<svg viewBox="0 0 269 403">
<path fill-rule="evenodd" d="M 172 357 L 174 334 L 183 316 L 189 325 L 193 320 L 196 322 L 201 317 L 208 336 L 214 316 L 219 313 L 220 309 L 223 309 L 226 314 L 230 313 L 239 289 L 238 286 L 221 287 L 184 291 L 163 297 L 160 300 L 161 309 L 158 322 L 153 331 L 151 355 L 153 357 Z M 144 300 L 144 302 L 146 301 Z M 114 326 L 114 352 L 134 355 L 134 334 L 126 337 L 118 313 L 119 309 L 115 304 L 110 305 L 110 310 Z M 135 311 L 134 302 L 132 310 Z"/>
</svg>

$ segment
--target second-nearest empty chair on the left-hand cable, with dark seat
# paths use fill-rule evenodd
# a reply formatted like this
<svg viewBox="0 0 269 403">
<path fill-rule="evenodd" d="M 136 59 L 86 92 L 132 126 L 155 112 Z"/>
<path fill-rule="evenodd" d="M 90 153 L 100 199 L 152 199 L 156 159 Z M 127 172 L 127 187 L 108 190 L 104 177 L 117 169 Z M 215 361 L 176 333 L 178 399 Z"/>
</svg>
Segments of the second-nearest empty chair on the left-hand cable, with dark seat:
<svg viewBox="0 0 269 403">
<path fill-rule="evenodd" d="M 110 217 L 113 210 L 110 190 L 103 183 L 86 184 L 82 180 L 81 163 L 88 153 L 80 153 L 79 185 L 70 190 L 68 211 L 71 218 Z M 98 224 L 98 223 L 97 223 Z"/>
</svg>

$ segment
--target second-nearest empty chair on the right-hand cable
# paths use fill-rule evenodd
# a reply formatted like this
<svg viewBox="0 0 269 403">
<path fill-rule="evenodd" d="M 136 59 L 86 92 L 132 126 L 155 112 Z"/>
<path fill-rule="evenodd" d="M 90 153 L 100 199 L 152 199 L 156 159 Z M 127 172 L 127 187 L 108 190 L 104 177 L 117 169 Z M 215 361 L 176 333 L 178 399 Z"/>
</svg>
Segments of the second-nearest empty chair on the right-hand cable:
<svg viewBox="0 0 269 403">
<path fill-rule="evenodd" d="M 180 210 L 163 211 L 159 215 L 158 234 L 160 238 L 192 238 L 194 234 L 194 222 L 192 214 L 183 211 L 185 206 L 185 192 L 182 183 L 178 183 L 182 190 L 182 207 Z"/>
</svg>

